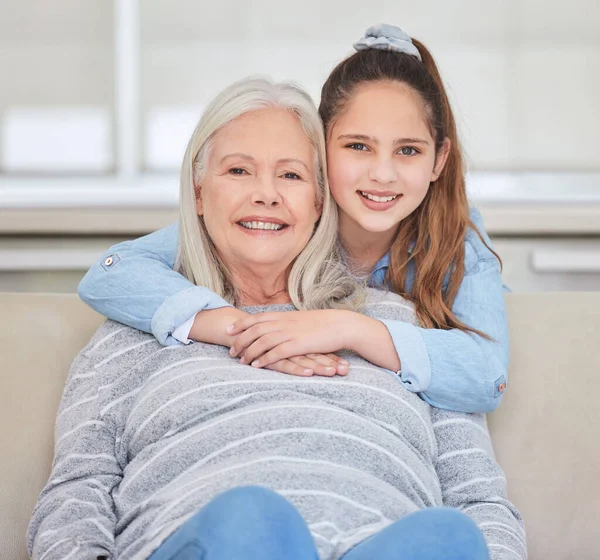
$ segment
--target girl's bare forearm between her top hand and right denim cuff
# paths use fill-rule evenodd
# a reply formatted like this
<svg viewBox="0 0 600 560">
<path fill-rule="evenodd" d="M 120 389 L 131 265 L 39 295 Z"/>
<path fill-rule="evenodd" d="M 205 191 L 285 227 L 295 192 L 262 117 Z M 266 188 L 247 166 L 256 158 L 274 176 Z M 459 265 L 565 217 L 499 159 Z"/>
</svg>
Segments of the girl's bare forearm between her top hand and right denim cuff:
<svg viewBox="0 0 600 560">
<path fill-rule="evenodd" d="M 400 370 L 400 358 L 387 327 L 377 319 L 352 313 L 344 321 L 348 329 L 348 349 L 376 366 L 392 371 Z"/>
</svg>

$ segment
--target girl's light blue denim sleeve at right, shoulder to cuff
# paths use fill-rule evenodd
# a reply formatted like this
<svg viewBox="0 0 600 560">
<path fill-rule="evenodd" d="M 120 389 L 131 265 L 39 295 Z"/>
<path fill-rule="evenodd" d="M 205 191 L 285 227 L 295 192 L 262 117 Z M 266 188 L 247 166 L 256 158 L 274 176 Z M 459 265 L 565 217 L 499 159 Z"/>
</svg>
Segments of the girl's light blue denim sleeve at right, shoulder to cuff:
<svg viewBox="0 0 600 560">
<path fill-rule="evenodd" d="M 486 238 L 481 216 L 471 219 Z M 460 330 L 423 329 L 383 321 L 402 363 L 405 387 L 433 406 L 460 412 L 491 412 L 506 389 L 509 360 L 508 324 L 500 265 L 470 230 L 466 240 L 465 276 L 452 307 L 464 324 L 493 340 Z"/>
</svg>

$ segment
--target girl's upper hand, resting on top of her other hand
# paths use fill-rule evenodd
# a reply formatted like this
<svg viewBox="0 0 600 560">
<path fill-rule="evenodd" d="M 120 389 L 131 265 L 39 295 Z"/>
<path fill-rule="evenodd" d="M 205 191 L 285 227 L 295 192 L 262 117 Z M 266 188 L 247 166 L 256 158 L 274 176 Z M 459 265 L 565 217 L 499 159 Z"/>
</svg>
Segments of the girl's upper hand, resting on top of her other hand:
<svg viewBox="0 0 600 560">
<path fill-rule="evenodd" d="M 332 309 L 248 315 L 227 329 L 235 339 L 230 354 L 243 364 L 264 368 L 298 356 L 351 349 L 349 313 Z"/>
</svg>

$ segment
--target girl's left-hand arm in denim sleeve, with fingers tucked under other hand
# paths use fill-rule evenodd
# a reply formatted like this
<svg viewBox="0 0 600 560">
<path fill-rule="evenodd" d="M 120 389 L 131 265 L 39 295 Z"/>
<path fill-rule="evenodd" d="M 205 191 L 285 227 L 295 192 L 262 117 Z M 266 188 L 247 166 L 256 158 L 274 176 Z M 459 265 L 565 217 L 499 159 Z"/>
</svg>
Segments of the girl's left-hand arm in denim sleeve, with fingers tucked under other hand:
<svg viewBox="0 0 600 560">
<path fill-rule="evenodd" d="M 247 315 L 208 288 L 173 270 L 178 226 L 111 247 L 79 284 L 79 297 L 92 309 L 120 323 L 154 334 L 163 345 L 189 339 L 231 346 L 229 325 Z M 270 369 L 292 375 L 345 375 L 337 356 L 282 360 Z"/>
</svg>

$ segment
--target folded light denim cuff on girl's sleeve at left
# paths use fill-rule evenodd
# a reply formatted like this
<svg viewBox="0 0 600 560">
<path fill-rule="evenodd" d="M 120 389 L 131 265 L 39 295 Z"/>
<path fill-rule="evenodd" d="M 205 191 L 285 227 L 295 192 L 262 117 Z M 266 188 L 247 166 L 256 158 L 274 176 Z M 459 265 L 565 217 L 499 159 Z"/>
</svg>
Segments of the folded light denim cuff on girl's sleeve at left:
<svg viewBox="0 0 600 560">
<path fill-rule="evenodd" d="M 180 344 L 173 337 L 178 326 L 189 321 L 190 315 L 220 307 L 233 306 L 208 288 L 192 286 L 167 298 L 156 310 L 152 317 L 152 334 L 163 346 Z"/>
</svg>

